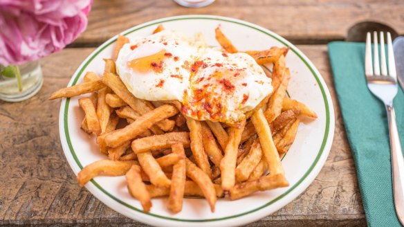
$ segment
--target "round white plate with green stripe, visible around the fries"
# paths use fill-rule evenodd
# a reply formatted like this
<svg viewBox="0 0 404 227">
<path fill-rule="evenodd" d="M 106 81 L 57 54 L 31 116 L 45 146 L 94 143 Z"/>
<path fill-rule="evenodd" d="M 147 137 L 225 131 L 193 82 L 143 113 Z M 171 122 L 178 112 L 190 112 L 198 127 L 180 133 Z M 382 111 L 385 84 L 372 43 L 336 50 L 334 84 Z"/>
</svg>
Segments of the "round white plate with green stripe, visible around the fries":
<svg viewBox="0 0 404 227">
<path fill-rule="evenodd" d="M 295 143 L 282 160 L 290 186 L 257 192 L 244 199 L 219 199 L 216 211 L 210 212 L 205 199 L 185 199 L 183 210 L 174 215 L 166 208 L 167 199 L 153 199 L 152 210 L 145 214 L 140 203 L 131 198 L 124 176 L 99 176 L 86 188 L 107 206 L 122 215 L 153 226 L 239 226 L 269 215 L 301 194 L 315 179 L 327 159 L 334 132 L 334 111 L 327 86 L 315 66 L 286 39 L 246 21 L 227 17 L 187 15 L 150 21 L 123 32 L 128 37 L 149 35 L 158 26 L 179 30 L 187 35 L 203 33 L 209 45 L 218 46 L 214 28 L 221 24 L 223 33 L 239 50 L 263 50 L 270 46 L 289 46 L 286 64 L 291 69 L 288 93 L 318 114 L 318 119 L 300 124 Z M 102 74 L 103 58 L 111 57 L 116 37 L 97 48 L 77 69 L 68 86 L 82 82 L 86 71 Z M 75 174 L 82 167 L 106 158 L 98 152 L 95 138 L 80 129 L 84 114 L 78 98 L 62 100 L 59 115 L 60 139 L 64 154 Z"/>
</svg>

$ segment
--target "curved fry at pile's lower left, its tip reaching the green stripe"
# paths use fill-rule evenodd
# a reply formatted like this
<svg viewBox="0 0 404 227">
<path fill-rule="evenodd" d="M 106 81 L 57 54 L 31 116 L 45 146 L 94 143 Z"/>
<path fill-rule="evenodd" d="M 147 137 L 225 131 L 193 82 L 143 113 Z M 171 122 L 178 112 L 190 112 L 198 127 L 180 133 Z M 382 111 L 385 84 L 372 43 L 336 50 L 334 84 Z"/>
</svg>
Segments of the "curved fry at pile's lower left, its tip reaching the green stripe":
<svg viewBox="0 0 404 227">
<path fill-rule="evenodd" d="M 123 176 L 134 164 L 136 164 L 135 161 L 95 161 L 84 167 L 79 174 L 77 174 L 77 181 L 80 187 L 83 187 L 95 176 Z"/>
</svg>

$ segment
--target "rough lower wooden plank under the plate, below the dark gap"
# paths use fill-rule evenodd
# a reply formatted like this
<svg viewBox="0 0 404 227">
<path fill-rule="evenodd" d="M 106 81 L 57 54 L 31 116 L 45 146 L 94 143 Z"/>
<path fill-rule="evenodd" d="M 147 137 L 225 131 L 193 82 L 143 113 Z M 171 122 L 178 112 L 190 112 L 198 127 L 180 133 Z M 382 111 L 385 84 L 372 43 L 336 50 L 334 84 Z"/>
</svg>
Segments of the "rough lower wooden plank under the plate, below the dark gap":
<svg viewBox="0 0 404 227">
<path fill-rule="evenodd" d="M 353 159 L 333 89 L 327 46 L 298 48 L 318 67 L 331 91 L 336 111 L 333 146 L 327 163 L 303 194 L 273 215 L 248 226 L 365 226 Z M 13 104 L 0 101 L 0 225 L 144 226 L 81 189 L 60 145 L 60 100 L 47 98 L 53 91 L 66 87 L 91 51 L 93 48 L 67 48 L 45 57 L 44 87 L 36 96 Z"/>
</svg>

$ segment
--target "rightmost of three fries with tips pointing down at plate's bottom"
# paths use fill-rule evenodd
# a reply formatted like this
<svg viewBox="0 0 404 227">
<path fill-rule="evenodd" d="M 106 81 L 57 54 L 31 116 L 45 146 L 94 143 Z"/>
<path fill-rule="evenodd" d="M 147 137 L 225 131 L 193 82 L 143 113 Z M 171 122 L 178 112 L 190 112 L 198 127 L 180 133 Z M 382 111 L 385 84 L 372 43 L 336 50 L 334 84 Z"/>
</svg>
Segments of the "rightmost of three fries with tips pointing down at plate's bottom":
<svg viewBox="0 0 404 227">
<path fill-rule="evenodd" d="M 186 173 L 187 176 L 194 181 L 199 188 L 201 188 L 203 196 L 208 201 L 210 210 L 214 212 L 214 205 L 216 204 L 216 190 L 214 190 L 214 185 L 210 180 L 208 174 L 205 174 L 203 170 L 197 167 L 188 158 L 185 158 Z"/>
</svg>

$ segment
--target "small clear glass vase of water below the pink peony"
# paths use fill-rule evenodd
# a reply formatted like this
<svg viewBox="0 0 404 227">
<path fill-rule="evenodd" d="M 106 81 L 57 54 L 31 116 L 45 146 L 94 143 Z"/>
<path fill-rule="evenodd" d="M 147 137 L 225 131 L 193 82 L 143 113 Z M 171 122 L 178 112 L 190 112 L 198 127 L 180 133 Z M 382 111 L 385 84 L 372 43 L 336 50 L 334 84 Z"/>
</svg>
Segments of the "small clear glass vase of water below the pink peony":
<svg viewBox="0 0 404 227">
<path fill-rule="evenodd" d="M 20 102 L 34 96 L 44 82 L 39 61 L 28 62 L 19 67 L 21 82 L 16 75 L 0 75 L 0 100 Z M 2 69 L 0 69 L 1 71 Z"/>
</svg>

